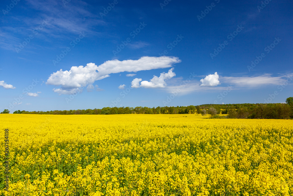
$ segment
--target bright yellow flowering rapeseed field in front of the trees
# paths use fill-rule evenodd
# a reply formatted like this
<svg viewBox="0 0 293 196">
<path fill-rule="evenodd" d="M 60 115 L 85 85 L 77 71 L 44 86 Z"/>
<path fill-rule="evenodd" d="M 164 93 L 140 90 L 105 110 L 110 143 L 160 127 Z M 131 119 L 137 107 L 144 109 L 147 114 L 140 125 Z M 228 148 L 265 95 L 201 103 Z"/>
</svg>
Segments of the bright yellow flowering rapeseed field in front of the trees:
<svg viewBox="0 0 293 196">
<path fill-rule="evenodd" d="M 2 114 L 0 195 L 293 195 L 293 121 Z"/>
</svg>

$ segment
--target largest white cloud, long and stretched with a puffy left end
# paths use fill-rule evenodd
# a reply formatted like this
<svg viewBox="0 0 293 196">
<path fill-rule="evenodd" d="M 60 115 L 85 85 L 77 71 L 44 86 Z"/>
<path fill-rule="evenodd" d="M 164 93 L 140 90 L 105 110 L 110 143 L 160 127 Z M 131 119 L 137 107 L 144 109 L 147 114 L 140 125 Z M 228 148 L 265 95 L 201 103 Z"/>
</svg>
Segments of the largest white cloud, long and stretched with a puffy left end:
<svg viewBox="0 0 293 196">
<path fill-rule="evenodd" d="M 61 86 L 60 88 L 53 89 L 56 93 L 72 94 L 76 92 L 77 89 L 93 84 L 97 80 L 109 77 L 111 73 L 168 68 L 180 62 L 181 60 L 178 57 L 173 56 L 144 56 L 138 60 L 119 61 L 115 59 L 106 61 L 99 66 L 94 63 L 88 63 L 86 66 L 73 66 L 69 71 L 60 69 L 50 75 L 46 84 Z"/>
</svg>

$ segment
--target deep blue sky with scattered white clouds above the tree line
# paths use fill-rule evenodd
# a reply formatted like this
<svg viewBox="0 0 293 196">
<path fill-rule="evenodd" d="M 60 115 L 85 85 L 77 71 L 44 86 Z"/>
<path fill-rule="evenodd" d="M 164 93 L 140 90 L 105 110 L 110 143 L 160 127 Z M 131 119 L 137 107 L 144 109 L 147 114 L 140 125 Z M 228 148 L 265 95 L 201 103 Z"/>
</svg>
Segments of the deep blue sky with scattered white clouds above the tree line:
<svg viewBox="0 0 293 196">
<path fill-rule="evenodd" d="M 0 110 L 283 103 L 293 3 L 4 0 Z"/>
</svg>

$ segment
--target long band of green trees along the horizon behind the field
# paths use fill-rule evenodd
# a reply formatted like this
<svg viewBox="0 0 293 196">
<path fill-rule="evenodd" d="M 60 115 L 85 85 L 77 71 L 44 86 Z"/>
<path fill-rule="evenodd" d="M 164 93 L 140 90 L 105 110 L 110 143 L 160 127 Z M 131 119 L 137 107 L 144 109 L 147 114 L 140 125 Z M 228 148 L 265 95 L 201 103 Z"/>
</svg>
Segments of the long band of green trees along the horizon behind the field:
<svg viewBox="0 0 293 196">
<path fill-rule="evenodd" d="M 287 99 L 288 100 L 288 99 Z M 292 98 L 293 100 L 293 98 Z M 106 107 L 87 110 L 54 110 L 54 111 L 15 111 L 14 114 L 54 114 L 54 115 L 109 115 L 109 114 L 211 114 L 212 118 L 251 118 L 251 119 L 292 119 L 293 102 L 269 104 L 205 104 L 165 107 Z M 223 115 L 227 114 L 227 117 Z"/>
</svg>

